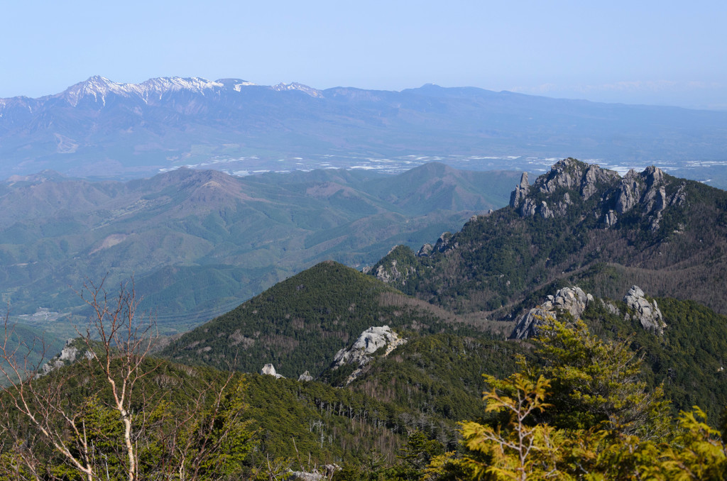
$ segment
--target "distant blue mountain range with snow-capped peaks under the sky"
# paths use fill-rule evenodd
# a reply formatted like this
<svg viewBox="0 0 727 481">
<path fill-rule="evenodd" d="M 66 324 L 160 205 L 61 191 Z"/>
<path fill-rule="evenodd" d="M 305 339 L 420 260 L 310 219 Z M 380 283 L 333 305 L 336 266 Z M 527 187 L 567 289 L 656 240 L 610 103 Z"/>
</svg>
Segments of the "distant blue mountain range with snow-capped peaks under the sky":
<svg viewBox="0 0 727 481">
<path fill-rule="evenodd" d="M 326 155 L 572 155 L 644 165 L 723 161 L 726 143 L 726 112 L 470 87 L 317 90 L 232 78 L 117 84 L 95 76 L 60 94 L 0 100 L 0 178 L 43 169 L 142 177 L 246 156 L 260 170 L 281 170 L 281 158 Z"/>
</svg>

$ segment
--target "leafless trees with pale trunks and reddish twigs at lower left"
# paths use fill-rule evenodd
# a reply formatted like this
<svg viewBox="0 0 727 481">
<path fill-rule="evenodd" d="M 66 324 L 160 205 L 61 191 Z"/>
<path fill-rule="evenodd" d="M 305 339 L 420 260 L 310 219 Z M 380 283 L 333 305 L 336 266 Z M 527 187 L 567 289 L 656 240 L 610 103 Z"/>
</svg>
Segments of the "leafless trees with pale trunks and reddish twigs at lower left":
<svg viewBox="0 0 727 481">
<path fill-rule="evenodd" d="M 137 315 L 139 302 L 133 279 L 121 283 L 118 294 L 113 295 L 105 290 L 103 281 L 87 281 L 79 296 L 91 312 L 86 328 L 76 329 L 85 351 L 85 372 L 75 366 L 39 377 L 46 357 L 44 343 L 18 341 L 9 312 L 5 316 L 4 337 L 0 339 L 4 378 L 0 437 L 12 442 L 0 447 L 0 473 L 12 474 L 18 480 L 57 479 L 47 460 L 48 453 L 55 453 L 61 459 L 57 462 L 70 466 L 88 481 L 110 479 L 108 453 L 95 445 L 86 419 L 94 403 L 100 403 L 105 412 L 115 413 L 114 422 L 121 424 L 123 442 L 113 447 L 113 457 L 117 473 L 121 466 L 126 480 L 140 479 L 140 450 L 150 442 L 152 432 L 154 442 L 161 446 L 155 479 L 198 479 L 204 461 L 225 449 L 229 437 L 239 434 L 236 427 L 243 426 L 244 404 L 225 405 L 233 374 L 221 384 L 208 383 L 187 393 L 188 406 L 174 410 L 182 413 L 175 416 L 164 409 L 158 395 L 164 389 L 156 389 L 156 394 L 140 389 L 143 381 L 154 376 L 158 383 L 165 382 L 165 375 L 157 372 L 164 362 L 149 356 L 157 338 L 155 324 L 153 319 Z M 31 353 L 38 348 L 41 360 L 30 363 Z M 82 405 L 73 403 L 68 395 L 71 385 L 79 384 L 92 389 L 89 401 Z M 241 389 L 239 385 L 237 389 Z M 218 426 L 220 416 L 225 418 L 222 429 Z"/>
</svg>

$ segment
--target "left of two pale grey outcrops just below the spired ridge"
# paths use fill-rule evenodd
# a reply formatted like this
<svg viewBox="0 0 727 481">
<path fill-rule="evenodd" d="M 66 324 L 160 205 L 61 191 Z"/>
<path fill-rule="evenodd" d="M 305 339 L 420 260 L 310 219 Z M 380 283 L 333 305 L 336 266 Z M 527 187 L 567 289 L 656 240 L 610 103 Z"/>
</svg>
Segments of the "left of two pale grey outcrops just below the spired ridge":
<svg viewBox="0 0 727 481">
<path fill-rule="evenodd" d="M 537 328 L 547 318 L 555 318 L 561 312 L 568 312 L 574 319 L 581 317 L 587 304 L 593 301 L 593 296 L 586 294 L 579 287 L 564 287 L 558 289 L 555 296 L 547 296 L 545 302 L 539 307 L 529 310 L 521 316 L 515 325 L 513 337 L 526 339 L 537 334 Z"/>
</svg>

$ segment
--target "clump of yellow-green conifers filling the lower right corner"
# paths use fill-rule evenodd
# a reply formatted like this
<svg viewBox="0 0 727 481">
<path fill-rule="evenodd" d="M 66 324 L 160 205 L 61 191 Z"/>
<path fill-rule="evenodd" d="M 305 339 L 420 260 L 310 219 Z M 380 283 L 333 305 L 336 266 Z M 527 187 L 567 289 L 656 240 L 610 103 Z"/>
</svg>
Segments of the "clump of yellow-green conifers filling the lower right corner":
<svg viewBox="0 0 727 481">
<path fill-rule="evenodd" d="M 625 342 L 602 341 L 583 323 L 550 320 L 544 333 L 535 353 L 542 365 L 485 376 L 486 411 L 497 416 L 463 423 L 465 456 L 434 459 L 429 479 L 727 479 L 720 432 L 696 406 L 670 419 Z"/>
</svg>

